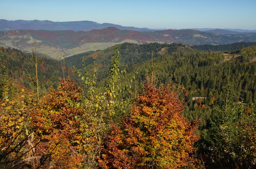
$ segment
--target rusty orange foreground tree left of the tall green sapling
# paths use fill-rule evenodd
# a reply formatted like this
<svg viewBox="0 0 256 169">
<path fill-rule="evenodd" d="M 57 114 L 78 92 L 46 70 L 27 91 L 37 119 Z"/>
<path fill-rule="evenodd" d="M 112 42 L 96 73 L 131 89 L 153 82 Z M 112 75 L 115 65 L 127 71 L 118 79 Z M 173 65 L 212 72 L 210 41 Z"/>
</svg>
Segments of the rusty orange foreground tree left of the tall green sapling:
<svg viewBox="0 0 256 169">
<path fill-rule="evenodd" d="M 38 103 L 36 111 L 31 112 L 32 124 L 38 128 L 36 141 L 49 140 L 36 147 L 36 152 L 39 152 L 37 156 L 51 153 L 51 160 L 47 159 L 45 162 L 49 163 L 48 167 L 82 166 L 83 156 L 78 153 L 77 148 L 81 122 L 76 119 L 76 116 L 84 114 L 81 98 L 81 88 L 68 78 L 60 81 L 58 90 L 50 89 Z"/>
</svg>

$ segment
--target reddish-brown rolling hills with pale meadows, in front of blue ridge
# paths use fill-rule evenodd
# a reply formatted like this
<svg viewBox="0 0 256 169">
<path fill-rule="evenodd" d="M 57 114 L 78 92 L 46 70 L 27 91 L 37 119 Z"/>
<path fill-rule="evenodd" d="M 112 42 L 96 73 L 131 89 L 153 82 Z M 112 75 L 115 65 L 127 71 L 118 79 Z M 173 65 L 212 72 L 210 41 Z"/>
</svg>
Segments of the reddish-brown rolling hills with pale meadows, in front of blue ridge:
<svg viewBox="0 0 256 169">
<path fill-rule="evenodd" d="M 131 43 L 183 43 L 186 45 L 231 44 L 256 41 L 255 33 L 215 34 L 211 32 L 184 30 L 163 30 L 138 32 L 121 30 L 116 27 L 94 29 L 91 31 L 46 31 L 13 30 L 0 32 L 0 46 L 17 48 L 30 52 L 34 41 L 40 53 L 46 53 L 55 59 L 60 53 L 64 57 L 91 50 L 102 50 L 124 42 Z"/>
</svg>

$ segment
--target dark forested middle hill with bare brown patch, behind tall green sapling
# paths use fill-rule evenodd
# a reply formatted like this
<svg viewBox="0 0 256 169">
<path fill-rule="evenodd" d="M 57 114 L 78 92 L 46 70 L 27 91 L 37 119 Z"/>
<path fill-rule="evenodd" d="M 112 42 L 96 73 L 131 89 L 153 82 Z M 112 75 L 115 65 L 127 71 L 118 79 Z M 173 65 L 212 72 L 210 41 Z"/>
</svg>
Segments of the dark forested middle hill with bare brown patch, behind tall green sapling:
<svg viewBox="0 0 256 169">
<path fill-rule="evenodd" d="M 136 64 L 143 63 L 151 59 L 151 53 L 153 52 L 153 58 L 158 57 L 163 54 L 170 54 L 176 51 L 179 47 L 184 47 L 185 45 L 179 43 L 149 43 L 149 44 L 134 44 L 134 43 L 123 43 L 120 44 L 121 48 L 121 67 L 124 68 L 125 65 L 129 68 L 127 71 L 133 71 Z M 86 59 L 85 64 L 95 64 L 99 68 L 99 79 L 107 77 L 108 63 L 111 60 L 111 53 L 113 48 L 107 48 L 105 50 L 96 51 L 93 54 L 91 52 L 85 52 L 82 54 L 70 56 L 66 58 L 66 63 L 69 66 L 75 65 L 76 68 L 81 69 L 83 67 L 82 58 Z"/>
</svg>

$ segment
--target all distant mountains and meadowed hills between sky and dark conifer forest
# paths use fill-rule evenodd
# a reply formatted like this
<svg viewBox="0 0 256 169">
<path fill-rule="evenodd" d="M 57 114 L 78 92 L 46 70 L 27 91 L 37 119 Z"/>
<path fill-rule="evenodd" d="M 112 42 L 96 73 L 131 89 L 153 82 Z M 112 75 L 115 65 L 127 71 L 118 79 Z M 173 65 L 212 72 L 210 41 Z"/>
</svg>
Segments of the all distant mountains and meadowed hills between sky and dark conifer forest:
<svg viewBox="0 0 256 169">
<path fill-rule="evenodd" d="M 0 46 L 30 52 L 36 41 L 37 51 L 58 58 L 105 49 L 124 42 L 183 43 L 186 45 L 231 44 L 256 41 L 256 30 L 181 29 L 152 30 L 92 21 L 52 22 L 48 20 L 0 19 Z"/>
</svg>

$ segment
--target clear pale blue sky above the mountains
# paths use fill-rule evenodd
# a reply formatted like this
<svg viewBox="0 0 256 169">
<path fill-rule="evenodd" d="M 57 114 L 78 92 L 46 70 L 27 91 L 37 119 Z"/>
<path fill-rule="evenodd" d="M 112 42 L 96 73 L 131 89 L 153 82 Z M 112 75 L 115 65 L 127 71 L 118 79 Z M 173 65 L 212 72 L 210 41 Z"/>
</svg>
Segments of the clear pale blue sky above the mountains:
<svg viewBox="0 0 256 169">
<path fill-rule="evenodd" d="M 256 29 L 256 0 L 0 0 L 0 19 L 147 28 Z"/>
</svg>

